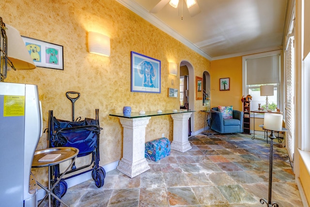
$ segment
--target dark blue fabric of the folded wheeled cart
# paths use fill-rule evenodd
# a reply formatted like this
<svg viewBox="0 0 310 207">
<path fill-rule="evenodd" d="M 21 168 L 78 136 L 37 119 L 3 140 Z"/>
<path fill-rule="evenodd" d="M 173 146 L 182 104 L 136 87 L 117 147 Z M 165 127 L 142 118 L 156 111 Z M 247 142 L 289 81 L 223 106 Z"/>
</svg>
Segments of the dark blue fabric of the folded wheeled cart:
<svg viewBox="0 0 310 207">
<path fill-rule="evenodd" d="M 54 141 L 52 147 L 76 147 L 78 157 L 92 153 L 97 147 L 97 136 L 100 128 L 96 120 L 86 118 L 84 121 L 71 122 L 54 117 Z"/>
</svg>

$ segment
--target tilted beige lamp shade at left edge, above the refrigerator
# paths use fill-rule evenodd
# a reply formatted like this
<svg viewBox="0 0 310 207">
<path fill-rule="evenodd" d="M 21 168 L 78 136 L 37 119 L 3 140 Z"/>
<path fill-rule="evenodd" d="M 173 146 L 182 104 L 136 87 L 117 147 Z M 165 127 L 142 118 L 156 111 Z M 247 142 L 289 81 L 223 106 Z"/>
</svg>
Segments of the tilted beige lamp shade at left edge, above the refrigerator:
<svg viewBox="0 0 310 207">
<path fill-rule="evenodd" d="M 34 69 L 36 68 L 33 60 L 25 46 L 19 32 L 12 26 L 6 24 L 6 36 L 8 40 L 8 57 L 15 69 Z"/>
</svg>

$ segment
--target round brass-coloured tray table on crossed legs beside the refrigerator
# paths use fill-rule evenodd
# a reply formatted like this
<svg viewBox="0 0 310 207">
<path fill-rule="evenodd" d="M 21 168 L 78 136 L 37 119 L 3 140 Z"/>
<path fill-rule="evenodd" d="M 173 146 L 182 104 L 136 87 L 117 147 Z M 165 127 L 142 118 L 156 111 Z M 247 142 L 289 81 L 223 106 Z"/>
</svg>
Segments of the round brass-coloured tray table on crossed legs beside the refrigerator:
<svg viewBox="0 0 310 207">
<path fill-rule="evenodd" d="M 43 158 L 46 155 L 51 154 L 61 154 L 61 156 L 53 161 L 39 161 L 39 159 Z M 57 197 L 52 191 L 54 190 L 55 186 L 59 183 L 59 181 L 62 179 L 62 176 L 66 174 L 66 172 L 72 167 L 73 163 L 75 162 L 76 158 L 78 156 L 78 149 L 75 147 L 52 147 L 47 149 L 42 149 L 34 152 L 33 160 L 32 160 L 32 168 L 39 168 L 39 167 L 48 167 L 48 187 L 44 187 L 41 183 L 38 183 L 38 185 L 44 189 L 47 194 L 42 199 L 42 201 L 38 204 L 38 206 L 41 205 L 41 203 L 47 198 L 48 196 L 48 206 L 51 206 L 51 196 L 53 196 L 55 199 L 57 199 L 59 202 L 61 202 L 64 206 L 69 207 L 66 205 L 61 198 Z M 50 172 L 50 166 L 60 164 L 64 161 L 67 161 L 69 159 L 71 160 L 70 165 L 68 168 L 62 173 L 61 177 L 56 181 L 56 183 L 51 186 L 51 176 L 52 172 Z"/>
</svg>

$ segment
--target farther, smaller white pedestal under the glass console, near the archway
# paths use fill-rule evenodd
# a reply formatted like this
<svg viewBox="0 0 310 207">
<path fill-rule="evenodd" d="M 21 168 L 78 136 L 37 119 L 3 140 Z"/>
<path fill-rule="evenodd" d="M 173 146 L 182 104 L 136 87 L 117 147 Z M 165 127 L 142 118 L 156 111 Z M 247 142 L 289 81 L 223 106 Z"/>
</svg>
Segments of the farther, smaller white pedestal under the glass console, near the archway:
<svg viewBox="0 0 310 207">
<path fill-rule="evenodd" d="M 186 152 L 192 147 L 188 142 L 188 119 L 192 112 L 171 114 L 173 119 L 173 141 L 171 149 Z"/>
</svg>

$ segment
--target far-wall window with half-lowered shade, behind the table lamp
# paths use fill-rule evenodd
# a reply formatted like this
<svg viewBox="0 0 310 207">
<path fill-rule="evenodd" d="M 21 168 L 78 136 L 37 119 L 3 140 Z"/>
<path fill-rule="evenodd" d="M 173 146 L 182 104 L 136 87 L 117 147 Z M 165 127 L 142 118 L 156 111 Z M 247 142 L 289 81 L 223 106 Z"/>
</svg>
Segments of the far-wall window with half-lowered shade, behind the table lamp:
<svg viewBox="0 0 310 207">
<path fill-rule="evenodd" d="M 261 96 L 261 85 L 273 85 L 274 96 L 268 96 L 268 110 L 281 109 L 280 104 L 281 50 L 248 55 L 242 58 L 243 95 L 252 96 L 251 109 L 266 109 L 266 96 Z M 283 111 L 283 109 L 281 109 Z"/>
</svg>

